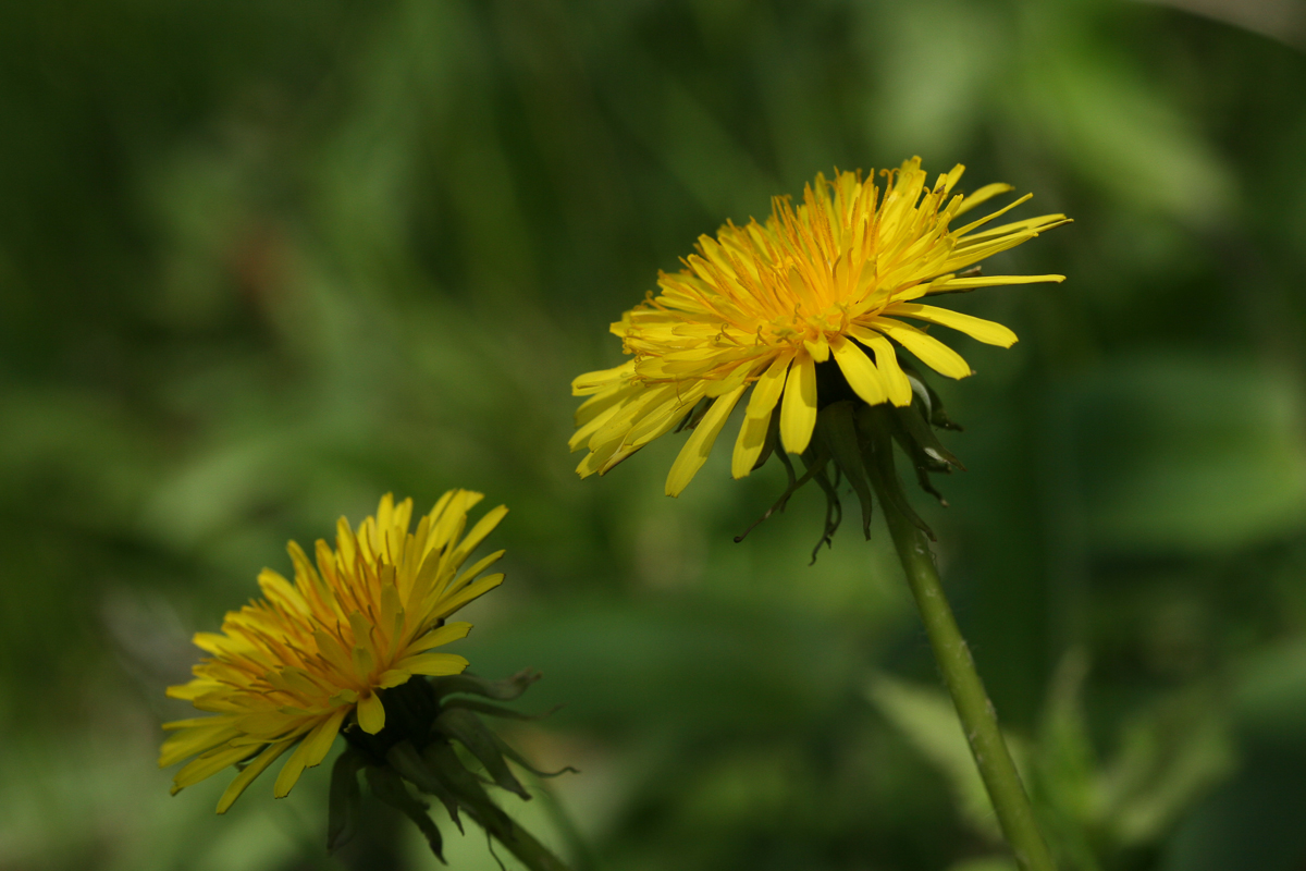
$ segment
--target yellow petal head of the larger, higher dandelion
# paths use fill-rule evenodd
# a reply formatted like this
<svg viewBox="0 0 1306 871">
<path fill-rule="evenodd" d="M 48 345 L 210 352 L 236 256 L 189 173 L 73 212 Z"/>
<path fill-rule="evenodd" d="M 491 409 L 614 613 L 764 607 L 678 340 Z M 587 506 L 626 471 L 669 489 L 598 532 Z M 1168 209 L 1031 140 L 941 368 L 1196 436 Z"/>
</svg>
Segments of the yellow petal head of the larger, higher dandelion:
<svg viewBox="0 0 1306 871">
<path fill-rule="evenodd" d="M 921 159 L 913 158 L 882 172 L 883 197 L 874 174 L 865 180 L 859 172 L 837 172 L 831 180 L 818 175 L 815 185 L 803 189 L 802 205 L 776 197 L 764 225 L 727 223 L 716 239 L 700 236 L 686 268 L 660 274 L 661 293 L 613 324 L 633 359 L 572 383 L 575 396 L 590 397 L 576 413 L 571 439 L 572 451 L 589 449 L 577 467 L 581 477 L 613 469 L 674 430 L 701 402 L 666 479 L 667 495 L 679 495 L 750 387 L 731 474 L 743 478 L 763 456 L 777 407 L 781 445 L 802 453 L 823 405 L 818 372 L 828 377 L 832 358 L 837 373 L 868 405 L 912 402 L 896 346 L 942 375 L 972 373 L 960 354 L 909 320 L 1010 347 L 1016 334 L 1002 324 L 918 300 L 1062 281 L 959 273 L 1067 218 L 1047 214 L 986 229 L 1027 195 L 952 229 L 953 219 L 1012 189 L 989 184 L 970 196 L 953 193 L 963 170 L 956 166 L 930 188 Z"/>
</svg>

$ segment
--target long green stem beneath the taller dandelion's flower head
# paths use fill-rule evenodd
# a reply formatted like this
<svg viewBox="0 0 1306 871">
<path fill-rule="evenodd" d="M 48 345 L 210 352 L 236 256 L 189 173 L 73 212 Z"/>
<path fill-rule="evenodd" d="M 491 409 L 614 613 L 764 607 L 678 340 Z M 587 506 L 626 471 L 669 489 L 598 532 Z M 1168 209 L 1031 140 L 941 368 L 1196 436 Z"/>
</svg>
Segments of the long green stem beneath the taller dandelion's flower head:
<svg viewBox="0 0 1306 871">
<path fill-rule="evenodd" d="M 882 503 L 883 504 L 883 503 Z M 906 572 L 934 658 L 943 673 L 943 682 L 952 693 L 961 727 L 970 742 L 980 776 L 989 790 L 989 800 L 998 812 L 998 823 L 1011 845 L 1016 862 L 1024 871 L 1055 871 L 1047 845 L 1038 832 L 1034 811 L 1029 806 L 1025 787 L 1011 761 L 1007 743 L 998 729 L 998 714 L 985 693 L 976 671 L 970 648 L 961 637 L 961 629 L 952 616 L 952 609 L 943 594 L 939 572 L 930 554 L 930 541 L 901 512 L 885 505 L 889 534 L 897 547 L 899 559 Z"/>
</svg>

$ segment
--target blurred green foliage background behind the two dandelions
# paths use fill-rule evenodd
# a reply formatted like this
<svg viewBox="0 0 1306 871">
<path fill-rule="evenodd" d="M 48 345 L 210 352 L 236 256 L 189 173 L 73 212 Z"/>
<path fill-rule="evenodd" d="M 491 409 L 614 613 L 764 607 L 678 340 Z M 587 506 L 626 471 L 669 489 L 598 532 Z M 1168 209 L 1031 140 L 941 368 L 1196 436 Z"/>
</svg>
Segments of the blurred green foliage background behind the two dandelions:
<svg viewBox="0 0 1306 871">
<path fill-rule="evenodd" d="M 0 5 L 0 868 L 436 867 L 325 857 L 325 769 L 217 817 L 154 759 L 287 538 L 454 486 L 581 871 L 1007 867 L 882 528 L 808 568 L 815 488 L 731 542 L 776 464 L 564 447 L 699 234 L 913 154 L 1076 221 L 951 298 L 1021 342 L 957 340 L 918 500 L 1062 867 L 1306 867 L 1306 13 L 1187 3 Z"/>
</svg>

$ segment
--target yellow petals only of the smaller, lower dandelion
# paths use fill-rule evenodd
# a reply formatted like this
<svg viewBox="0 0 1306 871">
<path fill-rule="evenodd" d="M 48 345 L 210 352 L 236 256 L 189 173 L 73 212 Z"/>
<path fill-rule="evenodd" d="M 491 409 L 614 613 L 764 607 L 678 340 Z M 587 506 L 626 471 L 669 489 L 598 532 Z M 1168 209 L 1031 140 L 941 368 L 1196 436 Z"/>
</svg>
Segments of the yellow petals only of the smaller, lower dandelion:
<svg viewBox="0 0 1306 871">
<path fill-rule="evenodd" d="M 304 768 L 323 761 L 347 718 L 368 734 L 384 729 L 380 691 L 414 675 L 461 673 L 465 658 L 435 648 L 471 624 L 445 618 L 503 581 L 478 577 L 502 550 L 458 572 L 508 512 L 494 508 L 464 535 L 481 499 L 451 490 L 409 531 L 413 500 L 396 505 L 387 494 L 357 531 L 340 518 L 336 550 L 317 541 L 316 567 L 290 542 L 295 582 L 265 568 L 264 598 L 227 612 L 222 632 L 197 633 L 196 646 L 210 656 L 193 680 L 167 691 L 214 714 L 165 723 L 176 734 L 163 743 L 159 767 L 196 757 L 178 772 L 172 794 L 243 764 L 218 802 L 223 814 L 294 747 L 273 786 L 282 798 Z"/>
</svg>

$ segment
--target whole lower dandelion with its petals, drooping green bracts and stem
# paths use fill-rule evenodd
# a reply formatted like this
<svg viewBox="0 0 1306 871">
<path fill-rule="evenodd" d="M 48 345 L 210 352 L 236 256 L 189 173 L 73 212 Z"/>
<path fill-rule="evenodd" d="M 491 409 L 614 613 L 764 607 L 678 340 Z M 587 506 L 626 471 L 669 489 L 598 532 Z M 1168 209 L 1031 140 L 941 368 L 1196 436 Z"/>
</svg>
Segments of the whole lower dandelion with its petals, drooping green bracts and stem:
<svg viewBox="0 0 1306 871">
<path fill-rule="evenodd" d="M 387 495 L 357 529 L 342 517 L 336 547 L 319 539 L 313 562 L 290 542 L 294 582 L 264 569 L 263 598 L 230 611 L 221 632 L 197 633 L 195 644 L 209 657 L 195 666 L 193 680 L 168 688 L 209 714 L 165 723 L 175 734 L 163 743 L 159 765 L 195 757 L 178 772 L 172 793 L 235 767 L 218 800 L 225 814 L 289 751 L 273 784 L 282 798 L 343 734 L 347 746 L 332 772 L 328 847 L 347 841 L 355 827 L 363 773 L 372 794 L 411 819 L 436 855 L 441 834 L 413 789 L 434 795 L 460 828 L 465 812 L 526 867 L 564 868 L 490 799 L 478 773 L 530 798 L 508 760 L 534 769 L 481 720 L 521 714 L 469 696 L 512 700 L 538 674 L 483 680 L 465 674 L 466 658 L 441 649 L 471 628 L 447 619 L 503 582 L 503 575 L 485 573 L 502 550 L 466 565 L 508 512 L 492 508 L 469 530 L 468 513 L 481 499 L 451 490 L 413 529 L 413 501 L 396 504 Z"/>
</svg>

